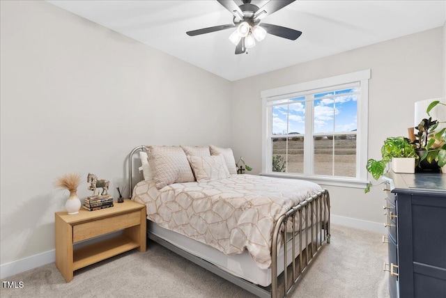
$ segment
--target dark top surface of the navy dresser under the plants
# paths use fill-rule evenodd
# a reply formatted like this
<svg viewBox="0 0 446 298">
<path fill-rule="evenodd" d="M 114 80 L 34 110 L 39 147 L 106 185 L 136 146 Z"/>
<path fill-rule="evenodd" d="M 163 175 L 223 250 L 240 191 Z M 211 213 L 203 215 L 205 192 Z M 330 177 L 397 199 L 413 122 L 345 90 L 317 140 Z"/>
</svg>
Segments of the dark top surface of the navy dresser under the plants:
<svg viewBox="0 0 446 298">
<path fill-rule="evenodd" d="M 401 174 L 390 171 L 383 178 L 390 182 L 392 192 L 394 189 L 398 192 L 432 191 L 446 196 L 446 173 Z"/>
</svg>

